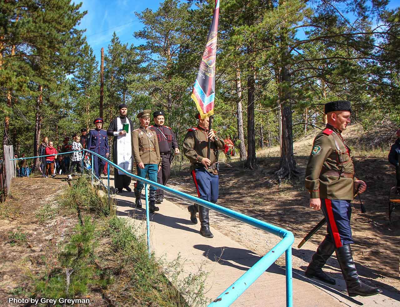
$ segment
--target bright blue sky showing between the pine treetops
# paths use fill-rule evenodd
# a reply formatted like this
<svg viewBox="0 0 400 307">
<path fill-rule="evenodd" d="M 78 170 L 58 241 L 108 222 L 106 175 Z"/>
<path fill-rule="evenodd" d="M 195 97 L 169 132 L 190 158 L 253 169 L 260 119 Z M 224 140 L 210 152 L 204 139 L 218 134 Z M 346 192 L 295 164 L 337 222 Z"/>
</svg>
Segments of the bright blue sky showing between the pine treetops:
<svg viewBox="0 0 400 307">
<path fill-rule="evenodd" d="M 141 42 L 133 36 L 135 31 L 141 30 L 143 25 L 135 15 L 146 8 L 153 11 L 158 9 L 160 0 L 133 1 L 133 0 L 82 0 L 81 11 L 88 13 L 81 20 L 78 28 L 86 28 L 86 38 L 92 47 L 97 59 L 100 59 L 100 50 L 108 48 L 112 34 L 115 31 L 122 43 L 138 45 Z M 399 0 L 390 0 L 389 8 L 400 5 Z M 210 12 L 211 16 L 212 12 Z"/>
</svg>

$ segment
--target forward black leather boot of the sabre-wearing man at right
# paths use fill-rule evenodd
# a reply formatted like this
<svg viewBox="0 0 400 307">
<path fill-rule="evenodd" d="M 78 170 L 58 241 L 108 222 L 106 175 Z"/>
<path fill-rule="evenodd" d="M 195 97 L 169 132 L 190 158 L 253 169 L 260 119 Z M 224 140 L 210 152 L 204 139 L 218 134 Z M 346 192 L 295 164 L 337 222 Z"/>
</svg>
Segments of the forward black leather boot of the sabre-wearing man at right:
<svg viewBox="0 0 400 307">
<path fill-rule="evenodd" d="M 376 287 L 370 287 L 360 281 L 356 265 L 354 264 L 350 245 L 344 245 L 336 249 L 336 257 L 342 269 L 344 280 L 347 285 L 349 296 L 370 296 L 382 293 L 382 290 Z"/>
</svg>

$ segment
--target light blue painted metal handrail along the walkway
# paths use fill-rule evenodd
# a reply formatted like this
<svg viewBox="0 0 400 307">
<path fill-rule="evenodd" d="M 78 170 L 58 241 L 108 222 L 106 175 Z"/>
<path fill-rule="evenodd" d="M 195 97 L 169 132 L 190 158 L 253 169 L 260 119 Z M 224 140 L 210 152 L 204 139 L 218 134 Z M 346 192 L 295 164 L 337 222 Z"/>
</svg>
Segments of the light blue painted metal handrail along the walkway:
<svg viewBox="0 0 400 307">
<path fill-rule="evenodd" d="M 79 150 L 76 150 L 79 151 Z M 108 179 L 108 197 L 110 198 L 110 165 L 117 168 L 118 170 L 125 173 L 127 176 L 136 179 L 138 181 L 142 181 L 145 185 L 145 196 L 146 196 L 146 222 L 147 222 L 147 242 L 148 242 L 148 251 L 150 255 L 150 218 L 149 218 L 149 210 L 148 210 L 148 191 L 147 185 L 152 185 L 153 187 L 157 187 L 158 189 L 162 189 L 168 193 L 186 199 L 187 201 L 196 203 L 198 205 L 207 207 L 208 209 L 215 210 L 219 213 L 227 215 L 228 217 L 232 217 L 233 219 L 242 221 L 243 223 L 252 225 L 257 227 L 258 229 L 262 229 L 268 233 L 272 233 L 282 238 L 282 240 L 276 244 L 266 255 L 264 255 L 260 260 L 257 261 L 246 273 L 244 273 L 237 281 L 235 281 L 228 289 L 221 293 L 214 301 L 212 301 L 208 306 L 229 306 L 232 304 L 250 285 L 262 275 L 283 253 L 285 253 L 285 267 L 286 267 L 286 306 L 293 306 L 293 297 L 292 297 L 292 244 L 294 242 L 294 236 L 291 231 L 286 229 L 277 227 L 275 225 L 266 223 L 264 221 L 255 219 L 254 217 L 249 217 L 237 211 L 233 211 L 231 209 L 210 203 L 209 201 L 204 201 L 203 199 L 199 199 L 198 197 L 194 197 L 192 195 L 183 193 L 181 191 L 171 189 L 164 185 L 160 185 L 154 181 L 139 177 L 137 175 L 133 175 L 108 159 L 102 157 L 96 152 L 93 152 L 88 149 L 83 149 L 83 151 L 89 152 L 92 154 L 92 181 L 93 181 L 93 155 L 96 155 L 100 159 L 108 162 L 107 169 L 107 179 Z M 73 151 L 72 151 L 73 152 Z M 71 152 L 64 152 L 58 155 L 65 155 Z M 38 156 L 44 157 L 44 156 Z M 37 157 L 29 157 L 22 159 L 32 159 Z M 20 160 L 20 159 L 10 159 L 10 160 Z M 95 176 L 95 175 L 94 175 Z M 96 176 L 95 176 L 96 177 Z M 96 177 L 96 179 L 98 179 Z"/>
</svg>

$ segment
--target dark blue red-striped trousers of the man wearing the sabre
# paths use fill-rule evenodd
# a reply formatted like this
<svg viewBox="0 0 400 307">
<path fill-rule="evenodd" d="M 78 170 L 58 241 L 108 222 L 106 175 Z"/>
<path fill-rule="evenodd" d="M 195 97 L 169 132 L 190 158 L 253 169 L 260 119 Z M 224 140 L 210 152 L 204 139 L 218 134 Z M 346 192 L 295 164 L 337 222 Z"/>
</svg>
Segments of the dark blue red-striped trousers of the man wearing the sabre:
<svg viewBox="0 0 400 307">
<path fill-rule="evenodd" d="M 321 199 L 321 209 L 328 224 L 326 239 L 334 243 L 336 248 L 354 243 L 350 227 L 350 201 Z"/>
</svg>

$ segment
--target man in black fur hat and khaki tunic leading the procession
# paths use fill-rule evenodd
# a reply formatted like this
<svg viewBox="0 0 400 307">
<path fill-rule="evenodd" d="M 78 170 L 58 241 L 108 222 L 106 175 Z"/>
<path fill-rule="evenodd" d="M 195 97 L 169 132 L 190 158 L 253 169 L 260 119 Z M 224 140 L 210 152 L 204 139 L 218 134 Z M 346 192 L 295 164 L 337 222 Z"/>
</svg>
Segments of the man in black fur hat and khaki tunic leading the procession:
<svg viewBox="0 0 400 307">
<path fill-rule="evenodd" d="M 328 124 L 314 139 L 306 169 L 306 189 L 310 192 L 310 207 L 322 209 L 324 213 L 328 234 L 312 256 L 306 276 L 336 284 L 322 271 L 326 261 L 336 251 L 349 296 L 382 293 L 380 289 L 360 281 L 350 248 L 350 244 L 354 243 L 350 227 L 350 202 L 356 191 L 363 193 L 366 190 L 364 181 L 354 177 L 350 148 L 341 135 L 350 123 L 350 102 L 328 102 L 325 104 L 325 114 Z"/>
</svg>

